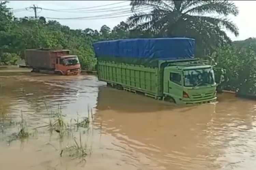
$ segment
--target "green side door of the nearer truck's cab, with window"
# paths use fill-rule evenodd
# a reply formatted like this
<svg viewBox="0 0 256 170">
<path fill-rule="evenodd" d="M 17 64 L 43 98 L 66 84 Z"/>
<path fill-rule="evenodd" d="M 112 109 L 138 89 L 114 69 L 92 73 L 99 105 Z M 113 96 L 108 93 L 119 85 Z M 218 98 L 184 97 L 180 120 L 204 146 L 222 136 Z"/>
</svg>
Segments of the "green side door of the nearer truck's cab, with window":
<svg viewBox="0 0 256 170">
<path fill-rule="evenodd" d="M 182 101 L 183 80 L 181 71 L 165 70 L 165 92 L 172 97 L 176 103 Z"/>
</svg>

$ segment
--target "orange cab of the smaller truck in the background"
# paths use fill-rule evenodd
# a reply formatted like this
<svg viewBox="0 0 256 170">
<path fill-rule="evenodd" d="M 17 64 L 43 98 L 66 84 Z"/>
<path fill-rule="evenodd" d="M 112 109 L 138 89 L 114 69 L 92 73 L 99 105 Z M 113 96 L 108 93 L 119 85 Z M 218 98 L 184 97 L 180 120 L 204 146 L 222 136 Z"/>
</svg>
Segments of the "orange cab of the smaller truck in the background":
<svg viewBox="0 0 256 170">
<path fill-rule="evenodd" d="M 62 75 L 76 75 L 81 72 L 79 59 L 76 55 L 58 56 L 55 61 L 55 72 Z"/>
</svg>

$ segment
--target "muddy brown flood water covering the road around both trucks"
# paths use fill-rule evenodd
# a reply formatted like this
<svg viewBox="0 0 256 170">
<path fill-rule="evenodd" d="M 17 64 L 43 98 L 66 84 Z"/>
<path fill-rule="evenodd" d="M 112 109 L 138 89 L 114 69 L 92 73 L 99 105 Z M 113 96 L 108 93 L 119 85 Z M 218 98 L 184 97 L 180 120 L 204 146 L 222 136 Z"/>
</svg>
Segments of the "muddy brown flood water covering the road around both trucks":
<svg viewBox="0 0 256 170">
<path fill-rule="evenodd" d="M 59 107 L 67 121 L 93 113 L 93 124 L 82 130 L 90 152 L 83 165 L 60 156 L 75 137 L 60 139 L 38 128 L 47 124 L 49 110 Z M 9 122 L 19 121 L 21 113 L 37 133 L 10 140 L 19 125 Z M 232 94 L 219 95 L 216 103 L 181 107 L 106 87 L 94 75 L 1 68 L 0 169 L 253 170 L 255 114 L 255 101 Z"/>
</svg>

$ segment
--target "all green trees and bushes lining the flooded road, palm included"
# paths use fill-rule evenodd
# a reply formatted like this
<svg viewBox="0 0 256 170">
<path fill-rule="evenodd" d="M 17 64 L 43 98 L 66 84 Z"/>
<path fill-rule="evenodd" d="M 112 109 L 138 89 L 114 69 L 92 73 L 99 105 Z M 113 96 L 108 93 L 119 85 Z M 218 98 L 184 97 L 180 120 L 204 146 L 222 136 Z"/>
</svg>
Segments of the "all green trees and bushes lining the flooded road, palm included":
<svg viewBox="0 0 256 170">
<path fill-rule="evenodd" d="M 226 89 L 255 92 L 256 40 L 232 42 L 225 32 L 239 35 L 237 26 L 228 18 L 239 14 L 232 1 L 134 0 L 130 5 L 132 11 L 145 7 L 152 10 L 134 12 L 113 29 L 103 25 L 98 31 L 90 28 L 72 30 L 44 17 L 16 18 L 8 2 L 0 2 L 0 63 L 17 64 L 24 58 L 25 49 L 58 48 L 70 49 L 79 56 L 83 69 L 94 70 L 96 58 L 92 43 L 95 41 L 185 36 L 196 39 L 196 57 L 213 56 L 217 67 L 227 70 Z"/>
</svg>

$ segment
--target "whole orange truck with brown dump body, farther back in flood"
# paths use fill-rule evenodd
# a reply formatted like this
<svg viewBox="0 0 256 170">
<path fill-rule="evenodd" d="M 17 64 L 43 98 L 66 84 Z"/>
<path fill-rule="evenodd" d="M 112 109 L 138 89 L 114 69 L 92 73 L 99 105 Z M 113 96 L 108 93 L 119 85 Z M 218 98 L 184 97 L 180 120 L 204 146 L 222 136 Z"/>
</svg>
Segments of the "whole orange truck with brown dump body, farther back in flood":
<svg viewBox="0 0 256 170">
<path fill-rule="evenodd" d="M 70 50 L 57 49 L 27 49 L 25 50 L 26 66 L 32 72 L 42 72 L 59 75 L 77 75 L 81 66 L 76 55 L 70 55 Z"/>
</svg>

